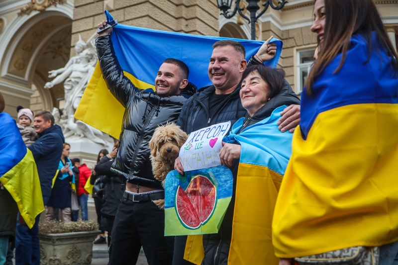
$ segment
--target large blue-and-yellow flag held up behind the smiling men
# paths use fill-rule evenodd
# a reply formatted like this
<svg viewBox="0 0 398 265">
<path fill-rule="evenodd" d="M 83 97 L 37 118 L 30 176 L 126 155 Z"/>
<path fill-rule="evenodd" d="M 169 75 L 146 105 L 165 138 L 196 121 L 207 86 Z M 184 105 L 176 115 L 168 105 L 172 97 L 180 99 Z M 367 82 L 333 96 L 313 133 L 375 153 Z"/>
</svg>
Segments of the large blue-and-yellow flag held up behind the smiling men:
<svg viewBox="0 0 398 265">
<path fill-rule="evenodd" d="M 107 14 L 108 21 L 113 19 Z M 189 81 L 198 88 L 210 86 L 207 75 L 212 45 L 228 38 L 200 36 L 178 32 L 167 32 L 118 24 L 113 27 L 111 40 L 116 57 L 124 75 L 140 89 L 155 89 L 155 78 L 160 65 L 167 58 L 175 58 L 186 63 L 190 69 Z M 256 54 L 263 41 L 233 39 L 246 49 L 246 59 Z M 277 44 L 277 54 L 267 66 L 276 68 L 282 52 L 282 41 L 272 39 Z M 99 107 L 103 106 L 103 107 Z M 100 65 L 97 64 L 87 86 L 75 118 L 118 138 L 124 107 L 106 88 Z M 100 118 L 99 118 L 100 117 Z"/>
</svg>

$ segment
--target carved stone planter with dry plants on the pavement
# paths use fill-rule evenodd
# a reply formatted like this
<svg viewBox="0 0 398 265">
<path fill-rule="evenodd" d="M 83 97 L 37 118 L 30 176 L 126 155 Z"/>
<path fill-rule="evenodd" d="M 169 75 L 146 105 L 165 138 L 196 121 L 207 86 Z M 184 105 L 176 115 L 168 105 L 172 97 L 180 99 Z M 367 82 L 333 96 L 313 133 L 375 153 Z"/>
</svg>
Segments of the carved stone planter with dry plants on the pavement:
<svg viewBox="0 0 398 265">
<path fill-rule="evenodd" d="M 99 230 L 63 234 L 39 234 L 40 265 L 91 264 L 93 241 Z"/>
</svg>

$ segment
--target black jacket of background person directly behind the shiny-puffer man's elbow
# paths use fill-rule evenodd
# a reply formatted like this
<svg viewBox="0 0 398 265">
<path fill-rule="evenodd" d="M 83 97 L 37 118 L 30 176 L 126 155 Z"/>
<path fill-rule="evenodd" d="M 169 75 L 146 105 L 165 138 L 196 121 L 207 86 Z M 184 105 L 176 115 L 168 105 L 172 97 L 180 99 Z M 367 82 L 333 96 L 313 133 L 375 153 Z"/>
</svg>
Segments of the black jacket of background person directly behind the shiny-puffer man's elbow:
<svg viewBox="0 0 398 265">
<path fill-rule="evenodd" d="M 104 183 L 101 214 L 115 216 L 120 199 L 125 189 L 126 179 L 110 171 L 113 160 L 104 156 L 96 166 L 96 173 L 102 175 L 100 181 Z"/>
</svg>

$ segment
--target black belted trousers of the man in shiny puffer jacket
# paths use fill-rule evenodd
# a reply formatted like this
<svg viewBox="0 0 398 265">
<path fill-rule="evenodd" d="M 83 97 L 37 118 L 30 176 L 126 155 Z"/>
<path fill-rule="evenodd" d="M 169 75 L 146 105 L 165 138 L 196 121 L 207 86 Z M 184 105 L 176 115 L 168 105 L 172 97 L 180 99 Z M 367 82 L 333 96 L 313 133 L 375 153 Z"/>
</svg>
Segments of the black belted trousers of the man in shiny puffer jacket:
<svg viewBox="0 0 398 265">
<path fill-rule="evenodd" d="M 152 201 L 122 197 L 113 223 L 109 265 L 135 265 L 141 246 L 148 265 L 171 265 L 174 237 L 165 237 L 165 212 Z"/>
</svg>

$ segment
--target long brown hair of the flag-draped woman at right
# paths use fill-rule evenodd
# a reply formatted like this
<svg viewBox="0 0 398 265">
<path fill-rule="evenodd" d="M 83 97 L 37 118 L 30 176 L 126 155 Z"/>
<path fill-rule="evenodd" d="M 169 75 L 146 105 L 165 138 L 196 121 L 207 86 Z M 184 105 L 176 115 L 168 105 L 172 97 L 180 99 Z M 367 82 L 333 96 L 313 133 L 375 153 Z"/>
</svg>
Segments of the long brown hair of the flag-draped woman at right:
<svg viewBox="0 0 398 265">
<path fill-rule="evenodd" d="M 316 0 L 315 0 L 316 1 Z M 371 34 L 375 31 L 378 41 L 384 47 L 387 56 L 392 58 L 393 71 L 398 77 L 397 52 L 383 25 L 382 18 L 373 0 L 324 0 L 325 1 L 325 30 L 324 41 L 306 81 L 306 92 L 312 95 L 311 86 L 315 78 L 333 61 L 342 54 L 341 62 L 334 73 L 343 67 L 347 51 L 350 49 L 351 36 L 362 34 L 368 43 L 369 57 L 372 55 Z M 380 51 L 379 51 L 380 55 Z M 382 57 L 380 55 L 380 60 Z"/>
</svg>

